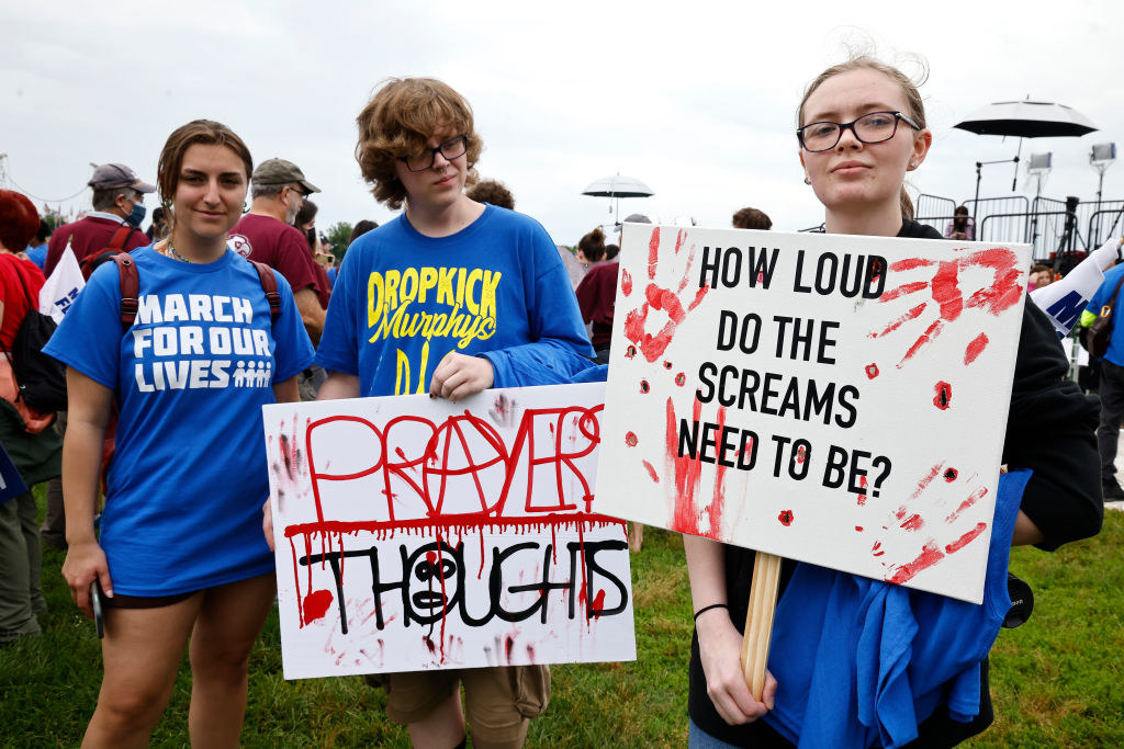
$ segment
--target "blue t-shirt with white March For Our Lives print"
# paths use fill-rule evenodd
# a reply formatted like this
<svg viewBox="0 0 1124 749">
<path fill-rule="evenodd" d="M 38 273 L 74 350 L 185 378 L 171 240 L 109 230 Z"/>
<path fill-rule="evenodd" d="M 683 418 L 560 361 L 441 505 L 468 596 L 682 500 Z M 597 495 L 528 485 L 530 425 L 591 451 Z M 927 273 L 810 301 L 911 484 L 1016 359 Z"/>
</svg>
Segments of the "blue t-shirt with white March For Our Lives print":
<svg viewBox="0 0 1124 749">
<path fill-rule="evenodd" d="M 110 387 L 120 409 L 100 544 L 114 590 L 160 596 L 273 569 L 262 407 L 312 345 L 285 280 L 271 325 L 254 267 L 133 253 L 139 310 L 123 334 L 117 265 L 90 277 L 44 349 Z"/>
</svg>

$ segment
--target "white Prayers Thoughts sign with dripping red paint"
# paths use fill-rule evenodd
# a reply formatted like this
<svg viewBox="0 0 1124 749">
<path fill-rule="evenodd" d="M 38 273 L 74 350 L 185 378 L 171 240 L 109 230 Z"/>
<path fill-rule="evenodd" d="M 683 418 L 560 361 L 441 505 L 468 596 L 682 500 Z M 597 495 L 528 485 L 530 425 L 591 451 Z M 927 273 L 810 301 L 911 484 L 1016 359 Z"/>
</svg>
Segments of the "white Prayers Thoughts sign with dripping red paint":
<svg viewBox="0 0 1124 749">
<path fill-rule="evenodd" d="M 634 659 L 604 395 L 265 407 L 285 678 Z"/>
</svg>

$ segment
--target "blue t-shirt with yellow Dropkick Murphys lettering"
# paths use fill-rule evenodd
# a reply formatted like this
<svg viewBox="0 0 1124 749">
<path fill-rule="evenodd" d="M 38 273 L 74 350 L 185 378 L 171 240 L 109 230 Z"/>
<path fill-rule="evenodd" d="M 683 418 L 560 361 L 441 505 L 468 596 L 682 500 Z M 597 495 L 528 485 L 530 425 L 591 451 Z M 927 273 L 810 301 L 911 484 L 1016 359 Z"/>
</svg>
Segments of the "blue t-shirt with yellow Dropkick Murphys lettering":
<svg viewBox="0 0 1124 749">
<path fill-rule="evenodd" d="M 316 363 L 361 395 L 424 393 L 450 351 L 484 356 L 495 387 L 571 382 L 590 366 L 578 301 L 537 221 L 495 205 L 448 237 L 405 214 L 357 238 L 339 266 Z"/>
</svg>

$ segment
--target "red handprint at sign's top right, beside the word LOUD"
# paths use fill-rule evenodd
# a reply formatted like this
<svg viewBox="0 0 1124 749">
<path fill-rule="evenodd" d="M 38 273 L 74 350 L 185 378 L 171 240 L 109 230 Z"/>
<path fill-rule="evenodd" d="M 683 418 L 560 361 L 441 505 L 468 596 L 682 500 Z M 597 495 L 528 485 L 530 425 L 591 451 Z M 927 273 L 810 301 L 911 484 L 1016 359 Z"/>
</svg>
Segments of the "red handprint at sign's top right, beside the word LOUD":
<svg viewBox="0 0 1124 749">
<path fill-rule="evenodd" d="M 901 360 L 898 362 L 898 368 L 901 368 L 906 362 L 913 358 L 927 344 L 935 340 L 941 335 L 944 326 L 955 321 L 966 309 L 982 308 L 991 314 L 998 316 L 1022 299 L 1023 290 L 1018 284 L 1019 276 L 1022 275 L 1018 257 L 1005 247 L 978 250 L 954 261 L 931 261 L 924 257 L 907 258 L 891 264 L 890 271 L 906 272 L 934 265 L 936 266 L 936 272 L 931 280 L 903 283 L 896 289 L 885 292 L 878 300 L 880 302 L 892 302 L 928 290 L 932 301 L 936 302 L 939 307 L 936 319 L 930 323 L 925 331 L 906 350 Z M 992 280 L 990 283 L 973 291 L 966 299 L 966 290 L 959 285 L 960 274 L 969 270 L 989 271 Z M 912 307 L 890 321 L 882 330 L 868 334 L 869 337 L 881 338 L 894 332 L 906 322 L 922 317 L 928 307 L 928 302 L 930 300 L 925 300 Z M 964 364 L 971 364 L 986 346 L 987 337 L 984 335 L 978 336 L 969 344 L 964 351 Z"/>
</svg>

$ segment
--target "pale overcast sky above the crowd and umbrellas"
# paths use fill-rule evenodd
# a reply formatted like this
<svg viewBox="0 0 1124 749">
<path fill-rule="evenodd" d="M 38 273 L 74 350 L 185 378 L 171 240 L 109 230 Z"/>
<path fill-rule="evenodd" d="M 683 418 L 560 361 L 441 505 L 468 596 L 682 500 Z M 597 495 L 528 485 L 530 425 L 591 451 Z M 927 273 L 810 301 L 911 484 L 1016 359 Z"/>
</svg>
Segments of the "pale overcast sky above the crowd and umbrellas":
<svg viewBox="0 0 1124 749">
<path fill-rule="evenodd" d="M 1099 131 L 1026 140 L 1053 152 L 1043 194 L 1095 199 L 1095 143 L 1124 146 L 1124 10 L 1116 2 L 0 2 L 0 153 L 40 199 L 82 190 L 90 162 L 123 162 L 155 182 L 167 135 L 206 117 L 230 126 L 255 163 L 296 162 L 323 189 L 326 229 L 392 217 L 353 157 L 355 116 L 387 76 L 433 75 L 471 102 L 478 170 L 560 244 L 611 222 L 582 190 L 619 172 L 654 197 L 620 213 L 729 226 L 754 205 L 777 229 L 823 220 L 796 155 L 805 84 L 873 44 L 890 63 L 927 61 L 933 149 L 913 184 L 957 202 L 975 163 L 1017 140 L 952 126 L 994 101 L 1066 103 Z M 1124 154 L 1122 154 L 1124 156 Z M 984 167 L 982 197 L 1009 195 L 1014 167 Z M 1019 193 L 1034 194 L 1021 173 Z M 64 208 L 84 208 L 90 193 Z M 1124 166 L 1105 176 L 1124 198 Z M 149 211 L 157 204 L 147 201 Z"/>
</svg>

